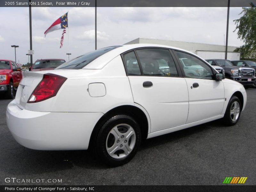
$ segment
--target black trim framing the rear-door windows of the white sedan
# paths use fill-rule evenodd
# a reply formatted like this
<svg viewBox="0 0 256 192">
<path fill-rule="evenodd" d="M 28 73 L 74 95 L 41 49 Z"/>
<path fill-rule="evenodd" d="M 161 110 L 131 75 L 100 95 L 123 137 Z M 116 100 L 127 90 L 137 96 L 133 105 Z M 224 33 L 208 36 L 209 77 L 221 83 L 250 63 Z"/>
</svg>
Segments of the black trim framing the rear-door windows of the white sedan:
<svg viewBox="0 0 256 192">
<path fill-rule="evenodd" d="M 125 51 L 125 52 L 121 53 L 120 55 L 121 55 L 121 58 L 122 58 L 122 61 L 123 61 L 123 64 L 124 64 L 126 76 L 145 76 L 145 77 L 149 77 L 148 75 L 144 75 L 142 67 L 141 67 L 140 59 L 139 59 L 138 54 L 136 52 L 137 50 L 140 50 L 140 49 L 164 49 L 164 50 L 168 50 L 170 52 L 170 55 L 171 55 L 173 61 L 174 61 L 174 65 L 175 65 L 177 73 L 178 73 L 177 77 L 175 77 L 175 76 L 155 76 L 155 75 L 150 75 L 150 77 L 175 77 L 175 78 L 183 78 L 181 70 L 180 70 L 180 68 L 179 68 L 179 66 L 177 64 L 176 58 L 172 54 L 171 49 L 170 48 L 166 48 L 166 47 L 138 47 L 138 48 L 130 49 L 128 51 Z M 128 70 L 127 70 L 127 67 L 126 67 L 125 62 L 124 62 L 124 55 L 126 53 L 129 53 L 129 52 L 132 52 L 132 51 L 135 52 L 136 59 L 137 59 L 137 61 L 139 63 L 141 75 L 128 74 Z"/>
</svg>

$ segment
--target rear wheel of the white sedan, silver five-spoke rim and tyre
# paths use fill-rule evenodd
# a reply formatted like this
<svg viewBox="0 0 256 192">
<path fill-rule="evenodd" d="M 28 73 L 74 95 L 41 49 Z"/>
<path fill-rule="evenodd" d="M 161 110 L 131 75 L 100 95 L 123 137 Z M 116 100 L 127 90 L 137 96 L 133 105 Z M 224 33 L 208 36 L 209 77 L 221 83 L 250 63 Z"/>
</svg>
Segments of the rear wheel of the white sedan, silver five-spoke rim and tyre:
<svg viewBox="0 0 256 192">
<path fill-rule="evenodd" d="M 116 115 L 101 127 L 95 140 L 95 153 L 109 166 L 128 163 L 138 151 L 141 142 L 140 127 L 127 115 Z"/>
</svg>

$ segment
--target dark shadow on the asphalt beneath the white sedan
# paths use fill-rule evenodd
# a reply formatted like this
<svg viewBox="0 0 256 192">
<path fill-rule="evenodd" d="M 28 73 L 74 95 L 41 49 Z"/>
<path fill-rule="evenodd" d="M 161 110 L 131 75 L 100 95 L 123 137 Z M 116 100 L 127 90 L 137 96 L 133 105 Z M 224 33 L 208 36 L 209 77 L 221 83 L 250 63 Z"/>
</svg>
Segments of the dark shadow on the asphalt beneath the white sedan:
<svg viewBox="0 0 256 192">
<path fill-rule="evenodd" d="M 139 153 L 144 153 L 143 150 L 145 149 L 153 149 L 168 143 L 179 142 L 182 138 L 191 137 L 194 134 L 200 135 L 201 132 L 219 129 L 221 126 L 220 121 L 217 120 L 152 139 L 143 140 Z M 9 137 L 8 140 L 13 141 L 9 143 L 7 149 L 2 150 L 2 159 L 0 160 L 2 164 L 1 170 L 6 174 L 42 174 L 69 170 L 74 167 L 81 167 L 88 170 L 109 168 L 95 158 L 90 150 L 39 151 L 22 147 L 14 141 L 11 134 Z"/>
</svg>

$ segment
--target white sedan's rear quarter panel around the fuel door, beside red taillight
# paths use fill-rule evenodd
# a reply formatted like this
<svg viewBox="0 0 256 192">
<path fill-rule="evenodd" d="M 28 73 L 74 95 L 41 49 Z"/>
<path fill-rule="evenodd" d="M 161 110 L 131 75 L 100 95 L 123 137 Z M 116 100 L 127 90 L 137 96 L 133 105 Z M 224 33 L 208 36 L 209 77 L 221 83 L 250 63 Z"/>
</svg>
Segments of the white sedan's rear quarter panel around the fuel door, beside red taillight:
<svg viewBox="0 0 256 192">
<path fill-rule="evenodd" d="M 52 70 L 68 77 L 55 97 L 27 103 L 26 109 L 41 112 L 101 112 L 121 105 L 134 105 L 130 82 L 126 76 L 121 56 L 117 56 L 102 69 Z M 41 73 L 41 72 L 40 72 Z M 89 84 L 102 83 L 106 95 L 91 97 Z"/>
</svg>

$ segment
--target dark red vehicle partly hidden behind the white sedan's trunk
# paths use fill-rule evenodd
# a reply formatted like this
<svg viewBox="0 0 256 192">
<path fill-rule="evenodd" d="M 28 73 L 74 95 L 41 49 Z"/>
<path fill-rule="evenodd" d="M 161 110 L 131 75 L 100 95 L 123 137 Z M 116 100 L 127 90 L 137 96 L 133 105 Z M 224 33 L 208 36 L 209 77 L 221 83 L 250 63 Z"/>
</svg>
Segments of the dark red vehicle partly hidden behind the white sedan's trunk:
<svg viewBox="0 0 256 192">
<path fill-rule="evenodd" d="M 29 71 L 52 70 L 65 62 L 64 59 L 39 59 L 29 68 Z"/>
</svg>

